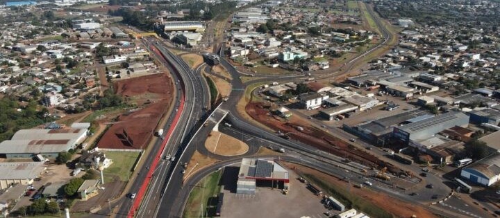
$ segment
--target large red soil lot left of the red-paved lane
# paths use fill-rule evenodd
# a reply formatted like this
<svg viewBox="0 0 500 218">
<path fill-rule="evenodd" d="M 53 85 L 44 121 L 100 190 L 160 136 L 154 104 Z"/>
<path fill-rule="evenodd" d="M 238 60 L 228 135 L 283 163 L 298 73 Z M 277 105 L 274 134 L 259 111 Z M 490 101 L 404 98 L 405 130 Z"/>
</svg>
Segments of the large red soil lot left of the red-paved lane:
<svg viewBox="0 0 500 218">
<path fill-rule="evenodd" d="M 119 116 L 103 134 L 97 147 L 145 149 L 171 103 L 174 91 L 172 80 L 165 74 L 147 75 L 119 81 L 115 84 L 115 90 L 126 98 L 147 96 L 147 99 L 142 99 L 140 109 Z"/>
</svg>

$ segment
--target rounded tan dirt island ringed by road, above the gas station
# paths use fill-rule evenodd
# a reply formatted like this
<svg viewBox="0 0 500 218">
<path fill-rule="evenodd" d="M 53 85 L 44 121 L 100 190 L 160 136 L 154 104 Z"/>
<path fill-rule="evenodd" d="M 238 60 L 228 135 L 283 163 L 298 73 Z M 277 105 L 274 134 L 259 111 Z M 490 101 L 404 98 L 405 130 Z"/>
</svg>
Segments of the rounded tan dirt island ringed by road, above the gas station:
<svg viewBox="0 0 500 218">
<path fill-rule="evenodd" d="M 236 138 L 212 131 L 205 141 L 205 147 L 209 152 L 224 156 L 235 156 L 248 152 L 249 146 Z"/>
</svg>

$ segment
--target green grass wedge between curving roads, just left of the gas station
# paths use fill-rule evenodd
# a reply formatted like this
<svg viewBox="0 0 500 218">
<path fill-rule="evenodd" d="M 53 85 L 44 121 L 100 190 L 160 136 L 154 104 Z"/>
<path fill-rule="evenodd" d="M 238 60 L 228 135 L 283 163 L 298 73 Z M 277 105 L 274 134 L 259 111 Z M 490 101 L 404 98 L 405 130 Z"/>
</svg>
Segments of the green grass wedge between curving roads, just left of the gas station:
<svg viewBox="0 0 500 218">
<path fill-rule="evenodd" d="M 217 194 L 221 190 L 221 186 L 218 185 L 221 176 L 222 171 L 213 172 L 194 186 L 185 206 L 183 217 L 200 217 L 202 213 L 203 217 L 207 217 L 207 213 L 210 215 L 208 211 L 215 210 Z M 201 204 L 203 204 L 203 211 L 200 210 Z"/>
</svg>

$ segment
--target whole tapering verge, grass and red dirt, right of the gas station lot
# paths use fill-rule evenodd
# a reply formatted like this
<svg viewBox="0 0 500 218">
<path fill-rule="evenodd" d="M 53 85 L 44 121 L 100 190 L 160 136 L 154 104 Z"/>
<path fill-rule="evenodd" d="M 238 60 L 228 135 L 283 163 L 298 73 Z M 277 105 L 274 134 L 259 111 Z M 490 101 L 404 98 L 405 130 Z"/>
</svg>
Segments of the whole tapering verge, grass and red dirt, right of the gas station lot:
<svg viewBox="0 0 500 218">
<path fill-rule="evenodd" d="M 334 176 L 324 174 L 309 167 L 293 163 L 283 163 L 288 168 L 295 169 L 297 174 L 303 176 L 320 188 L 334 196 L 346 206 L 352 206 L 363 211 L 370 217 L 436 217 L 433 213 L 425 210 L 421 206 L 393 199 L 381 192 L 375 192 L 366 188 L 354 188 L 349 184 Z"/>
</svg>

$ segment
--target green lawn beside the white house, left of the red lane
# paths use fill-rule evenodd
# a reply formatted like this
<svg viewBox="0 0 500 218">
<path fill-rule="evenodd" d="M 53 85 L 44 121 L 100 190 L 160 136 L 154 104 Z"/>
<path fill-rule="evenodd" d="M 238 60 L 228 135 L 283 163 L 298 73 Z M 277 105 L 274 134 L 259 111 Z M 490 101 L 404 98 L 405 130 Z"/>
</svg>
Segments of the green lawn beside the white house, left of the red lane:
<svg viewBox="0 0 500 218">
<path fill-rule="evenodd" d="M 105 152 L 105 154 L 106 158 L 113 161 L 113 164 L 104 170 L 104 181 L 114 181 L 115 176 L 118 176 L 121 181 L 128 181 L 139 152 Z"/>
</svg>

